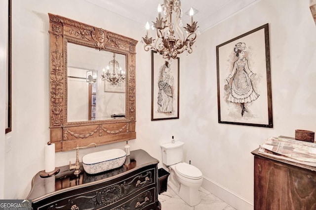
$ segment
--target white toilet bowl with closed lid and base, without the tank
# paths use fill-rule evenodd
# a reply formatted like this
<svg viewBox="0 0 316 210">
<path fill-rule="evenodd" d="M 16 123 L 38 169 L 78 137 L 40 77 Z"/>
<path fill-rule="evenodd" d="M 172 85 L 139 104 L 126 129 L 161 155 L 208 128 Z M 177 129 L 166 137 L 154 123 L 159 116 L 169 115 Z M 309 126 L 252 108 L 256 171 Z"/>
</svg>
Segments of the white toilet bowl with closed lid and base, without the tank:
<svg viewBox="0 0 316 210">
<path fill-rule="evenodd" d="M 177 163 L 169 168 L 169 187 L 190 206 L 199 204 L 198 188 L 203 182 L 202 172 L 188 163 Z"/>
</svg>

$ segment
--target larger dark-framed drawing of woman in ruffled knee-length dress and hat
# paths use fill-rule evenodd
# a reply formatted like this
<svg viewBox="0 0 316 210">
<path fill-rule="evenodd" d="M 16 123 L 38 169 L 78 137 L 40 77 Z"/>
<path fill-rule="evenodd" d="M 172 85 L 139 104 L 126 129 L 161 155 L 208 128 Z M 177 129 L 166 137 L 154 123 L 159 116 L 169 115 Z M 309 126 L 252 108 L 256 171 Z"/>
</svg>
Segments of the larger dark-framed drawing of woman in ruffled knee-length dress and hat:
<svg viewBox="0 0 316 210">
<path fill-rule="evenodd" d="M 218 122 L 273 127 L 269 25 L 216 46 Z"/>
</svg>

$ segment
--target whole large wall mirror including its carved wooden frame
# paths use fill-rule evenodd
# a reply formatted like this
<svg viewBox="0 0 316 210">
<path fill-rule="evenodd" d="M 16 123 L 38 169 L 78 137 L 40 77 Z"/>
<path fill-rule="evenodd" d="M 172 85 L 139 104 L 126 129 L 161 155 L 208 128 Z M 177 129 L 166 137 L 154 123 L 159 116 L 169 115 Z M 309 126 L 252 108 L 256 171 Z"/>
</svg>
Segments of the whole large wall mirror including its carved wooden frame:
<svg viewBox="0 0 316 210">
<path fill-rule="evenodd" d="M 50 141 L 56 152 L 135 139 L 137 41 L 48 16 Z"/>
</svg>

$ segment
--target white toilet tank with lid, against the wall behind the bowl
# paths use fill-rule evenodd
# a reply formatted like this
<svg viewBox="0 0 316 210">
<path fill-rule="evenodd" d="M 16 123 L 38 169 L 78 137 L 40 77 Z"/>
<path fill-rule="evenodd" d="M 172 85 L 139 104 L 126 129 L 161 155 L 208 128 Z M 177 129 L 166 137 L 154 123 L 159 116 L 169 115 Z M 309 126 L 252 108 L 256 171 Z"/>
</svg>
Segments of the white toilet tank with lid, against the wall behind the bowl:
<svg viewBox="0 0 316 210">
<path fill-rule="evenodd" d="M 162 163 L 166 166 L 180 163 L 183 158 L 183 142 L 176 141 L 160 145 L 162 151 Z"/>
</svg>

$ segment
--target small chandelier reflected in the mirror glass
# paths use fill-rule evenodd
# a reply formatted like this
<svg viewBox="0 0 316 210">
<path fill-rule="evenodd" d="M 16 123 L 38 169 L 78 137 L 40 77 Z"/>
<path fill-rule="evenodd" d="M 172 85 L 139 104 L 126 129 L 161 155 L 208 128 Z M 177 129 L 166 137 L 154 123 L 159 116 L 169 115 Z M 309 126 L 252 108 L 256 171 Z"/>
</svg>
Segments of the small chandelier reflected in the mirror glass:
<svg viewBox="0 0 316 210">
<path fill-rule="evenodd" d="M 118 61 L 115 60 L 115 53 L 113 53 L 113 60 L 110 60 L 107 65 L 107 71 L 103 68 L 101 74 L 102 81 L 108 81 L 112 86 L 117 86 L 120 82 L 125 81 L 125 72 L 119 67 Z"/>
</svg>

